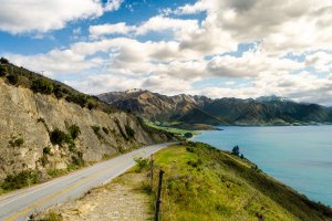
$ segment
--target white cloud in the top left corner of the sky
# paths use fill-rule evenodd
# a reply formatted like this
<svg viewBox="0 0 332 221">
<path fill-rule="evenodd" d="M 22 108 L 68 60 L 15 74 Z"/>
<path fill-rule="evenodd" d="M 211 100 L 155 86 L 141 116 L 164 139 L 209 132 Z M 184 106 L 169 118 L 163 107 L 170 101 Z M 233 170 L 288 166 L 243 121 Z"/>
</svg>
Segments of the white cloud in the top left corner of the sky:
<svg viewBox="0 0 332 221">
<path fill-rule="evenodd" d="M 120 8 L 122 0 L 0 0 L 0 30 L 12 34 L 63 29 L 68 22 L 101 17 Z"/>
</svg>

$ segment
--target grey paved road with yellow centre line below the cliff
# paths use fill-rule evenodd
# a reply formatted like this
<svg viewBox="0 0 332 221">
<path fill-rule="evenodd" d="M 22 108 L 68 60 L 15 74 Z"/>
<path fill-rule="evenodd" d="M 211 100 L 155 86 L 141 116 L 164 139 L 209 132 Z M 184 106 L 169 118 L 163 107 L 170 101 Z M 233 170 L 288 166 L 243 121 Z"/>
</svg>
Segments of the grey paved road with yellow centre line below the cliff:
<svg viewBox="0 0 332 221">
<path fill-rule="evenodd" d="M 174 144 L 147 146 L 49 182 L 0 196 L 0 220 L 27 220 L 35 211 L 79 198 L 91 188 L 110 182 L 133 167 L 135 165 L 133 158 L 148 157 Z"/>
</svg>

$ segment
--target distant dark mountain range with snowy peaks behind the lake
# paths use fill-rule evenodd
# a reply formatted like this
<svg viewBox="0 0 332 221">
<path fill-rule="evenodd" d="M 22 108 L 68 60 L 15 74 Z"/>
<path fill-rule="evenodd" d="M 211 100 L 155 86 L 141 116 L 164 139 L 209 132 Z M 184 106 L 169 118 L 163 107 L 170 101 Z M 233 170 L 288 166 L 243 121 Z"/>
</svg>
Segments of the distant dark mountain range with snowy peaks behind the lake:
<svg viewBox="0 0 332 221">
<path fill-rule="evenodd" d="M 332 109 L 318 104 L 297 103 L 286 97 L 209 98 L 167 96 L 145 90 L 111 92 L 97 96 L 145 120 L 189 125 L 303 125 L 332 122 Z"/>
</svg>

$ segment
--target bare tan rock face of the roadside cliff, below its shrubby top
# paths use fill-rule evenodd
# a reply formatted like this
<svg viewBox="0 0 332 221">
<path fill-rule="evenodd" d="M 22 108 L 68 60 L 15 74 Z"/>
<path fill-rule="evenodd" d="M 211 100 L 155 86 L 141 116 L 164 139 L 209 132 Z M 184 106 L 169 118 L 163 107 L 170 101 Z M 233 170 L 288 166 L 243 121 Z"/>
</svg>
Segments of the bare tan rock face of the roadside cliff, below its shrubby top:
<svg viewBox="0 0 332 221">
<path fill-rule="evenodd" d="M 65 137 L 60 145 L 51 141 L 54 130 L 69 134 L 72 126 L 80 130 L 76 138 Z M 23 170 L 45 171 L 66 168 L 77 160 L 98 161 L 165 140 L 166 135 L 148 133 L 132 114 L 82 108 L 0 80 L 0 181 Z"/>
</svg>

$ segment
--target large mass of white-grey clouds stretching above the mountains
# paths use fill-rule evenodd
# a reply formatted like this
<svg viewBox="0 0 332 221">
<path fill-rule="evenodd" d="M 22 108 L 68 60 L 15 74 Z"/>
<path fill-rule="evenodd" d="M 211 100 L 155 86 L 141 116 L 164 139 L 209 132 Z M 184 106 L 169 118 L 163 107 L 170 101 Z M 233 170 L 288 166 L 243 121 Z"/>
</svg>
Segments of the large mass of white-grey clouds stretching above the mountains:
<svg viewBox="0 0 332 221">
<path fill-rule="evenodd" d="M 123 1 L 107 1 L 104 8 L 98 1 L 89 2 L 97 10 L 90 8 L 94 12 L 74 19 L 117 10 Z M 89 41 L 63 50 L 30 56 L 9 54 L 9 59 L 33 70 L 49 70 L 54 76 L 97 69 L 97 75 L 66 82 L 93 94 L 142 87 L 211 97 L 277 94 L 331 104 L 331 12 L 330 0 L 198 0 L 134 25 L 91 25 Z M 205 18 L 193 19 L 198 13 Z M 191 19 L 183 17 L 188 14 Z M 151 32 L 167 32 L 168 39 L 148 40 Z M 238 51 L 240 43 L 257 42 L 253 49 Z M 289 53 L 303 59 L 294 60 Z M 212 77 L 225 80 L 226 86 L 195 86 Z"/>
</svg>

